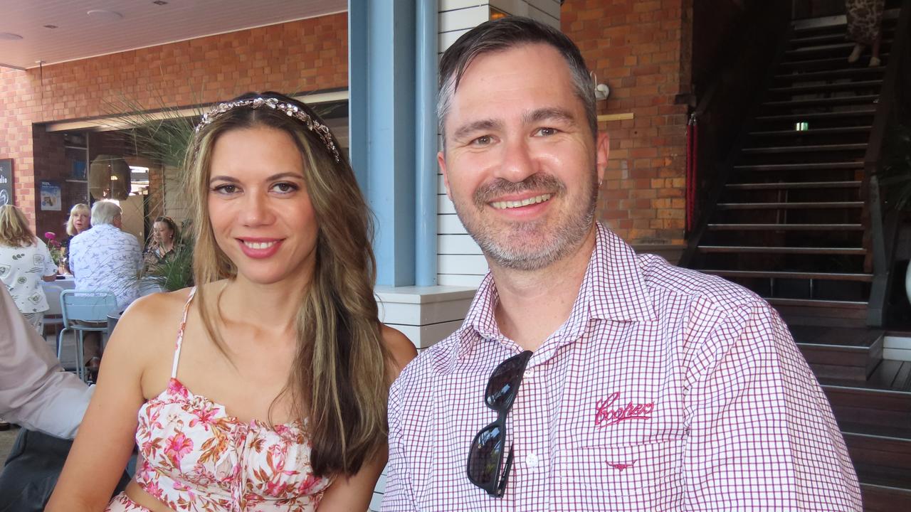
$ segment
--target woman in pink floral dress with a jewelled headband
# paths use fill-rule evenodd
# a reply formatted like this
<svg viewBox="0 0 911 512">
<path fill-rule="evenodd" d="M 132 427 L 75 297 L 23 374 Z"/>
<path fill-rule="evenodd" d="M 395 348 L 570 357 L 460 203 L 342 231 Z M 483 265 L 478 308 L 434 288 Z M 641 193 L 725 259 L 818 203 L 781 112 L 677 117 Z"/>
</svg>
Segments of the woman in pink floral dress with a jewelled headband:
<svg viewBox="0 0 911 512">
<path fill-rule="evenodd" d="M 311 108 L 247 94 L 189 150 L 195 290 L 129 307 L 46 510 L 365 510 L 389 384 L 415 356 L 377 320 L 370 217 Z"/>
</svg>

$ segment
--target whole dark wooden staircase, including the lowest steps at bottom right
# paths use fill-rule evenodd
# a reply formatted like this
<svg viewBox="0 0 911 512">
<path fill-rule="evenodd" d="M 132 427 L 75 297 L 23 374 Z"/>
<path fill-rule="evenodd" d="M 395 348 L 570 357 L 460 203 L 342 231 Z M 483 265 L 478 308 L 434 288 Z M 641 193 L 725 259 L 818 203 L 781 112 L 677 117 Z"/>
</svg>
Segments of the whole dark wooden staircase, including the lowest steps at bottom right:
<svg viewBox="0 0 911 512">
<path fill-rule="evenodd" d="M 888 333 L 867 327 L 883 266 L 868 149 L 881 142 L 877 107 L 904 5 L 900 20 L 884 20 L 879 67 L 868 53 L 847 63 L 844 16 L 793 27 L 681 261 L 782 313 L 833 406 L 868 512 L 911 510 L 911 362 L 884 359 Z"/>
</svg>

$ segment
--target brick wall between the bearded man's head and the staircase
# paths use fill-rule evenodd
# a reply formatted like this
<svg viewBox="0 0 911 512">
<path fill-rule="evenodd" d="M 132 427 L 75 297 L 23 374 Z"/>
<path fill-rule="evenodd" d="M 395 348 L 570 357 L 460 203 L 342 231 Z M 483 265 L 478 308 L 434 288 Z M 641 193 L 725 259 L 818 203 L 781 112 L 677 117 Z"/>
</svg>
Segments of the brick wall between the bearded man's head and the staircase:
<svg viewBox="0 0 911 512">
<path fill-rule="evenodd" d="M 692 0 L 567 0 L 565 32 L 600 83 L 599 114 L 634 118 L 599 123 L 610 136 L 599 218 L 637 245 L 681 245 L 684 238 L 687 106 Z"/>
</svg>

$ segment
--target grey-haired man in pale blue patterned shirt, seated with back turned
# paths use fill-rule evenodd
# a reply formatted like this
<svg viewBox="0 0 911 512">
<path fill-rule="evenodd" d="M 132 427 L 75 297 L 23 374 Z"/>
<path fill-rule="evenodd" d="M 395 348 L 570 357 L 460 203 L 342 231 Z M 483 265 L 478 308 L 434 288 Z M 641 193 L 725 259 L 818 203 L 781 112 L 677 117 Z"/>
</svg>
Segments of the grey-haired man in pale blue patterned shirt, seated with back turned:
<svg viewBox="0 0 911 512">
<path fill-rule="evenodd" d="M 69 266 L 76 277 L 76 289 L 114 292 L 119 311 L 138 298 L 142 268 L 139 242 L 121 230 L 122 214 L 116 202 L 97 201 L 92 205 L 92 228 L 69 242 Z M 97 356 L 101 354 L 97 333 L 86 333 L 84 347 L 89 371 L 97 372 Z"/>
</svg>

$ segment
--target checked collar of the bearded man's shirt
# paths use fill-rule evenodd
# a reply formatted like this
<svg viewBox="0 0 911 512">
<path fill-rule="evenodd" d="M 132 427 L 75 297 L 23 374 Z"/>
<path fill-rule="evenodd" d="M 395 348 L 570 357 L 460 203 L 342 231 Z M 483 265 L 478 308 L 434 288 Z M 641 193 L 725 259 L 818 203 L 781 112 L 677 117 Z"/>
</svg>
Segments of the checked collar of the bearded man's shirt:
<svg viewBox="0 0 911 512">
<path fill-rule="evenodd" d="M 595 249 L 588 270 L 567 323 L 559 329 L 572 339 L 578 338 L 591 318 L 616 322 L 649 322 L 656 318 L 650 293 L 640 274 L 636 251 L 600 222 L 595 228 Z M 457 332 L 460 358 L 479 338 L 498 339 L 501 336 L 496 325 L 497 302 L 499 295 L 494 276 L 488 271 Z"/>
</svg>

